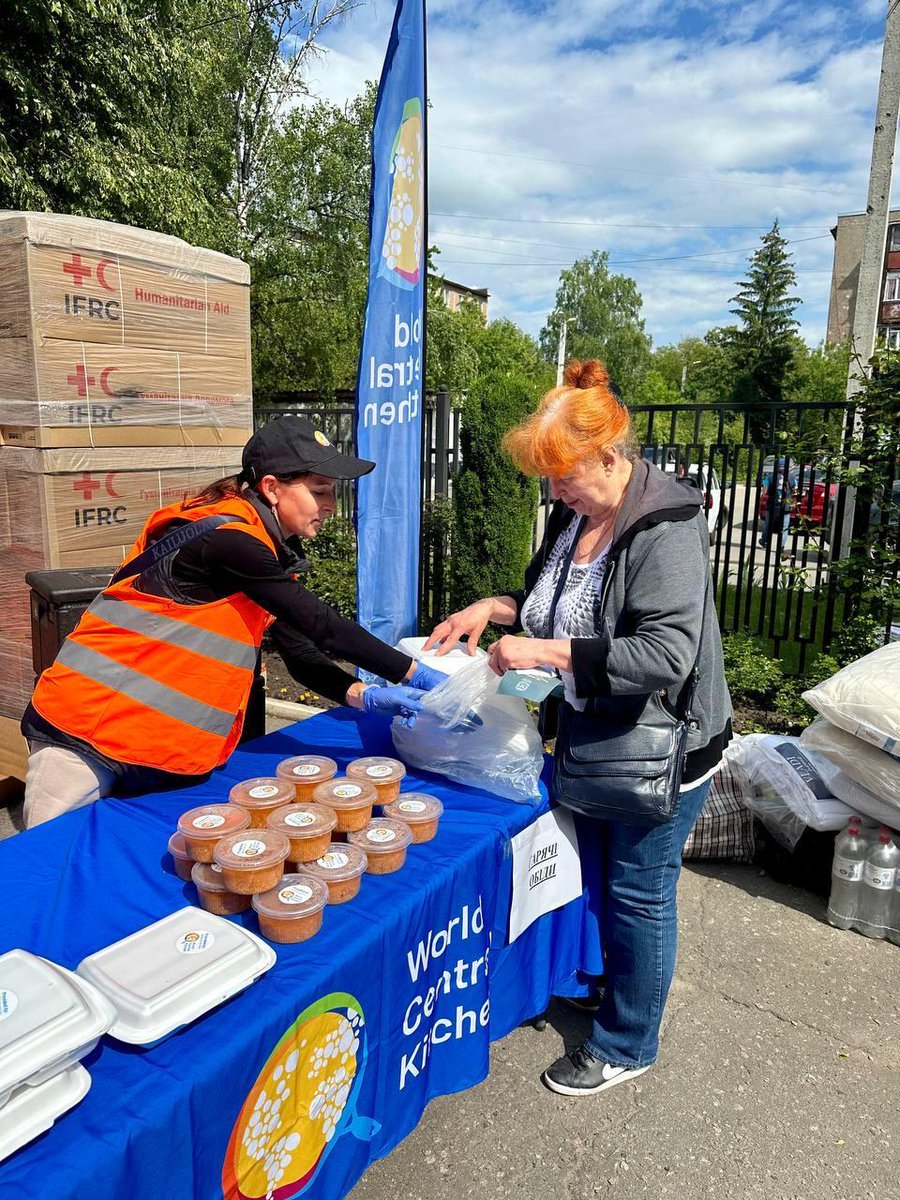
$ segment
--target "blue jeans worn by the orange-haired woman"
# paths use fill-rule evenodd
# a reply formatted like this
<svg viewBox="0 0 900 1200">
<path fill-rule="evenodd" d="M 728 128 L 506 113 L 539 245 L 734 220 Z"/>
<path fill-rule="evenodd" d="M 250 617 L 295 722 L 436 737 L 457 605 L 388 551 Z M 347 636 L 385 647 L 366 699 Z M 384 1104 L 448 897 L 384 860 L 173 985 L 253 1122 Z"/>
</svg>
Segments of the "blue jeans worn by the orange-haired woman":
<svg viewBox="0 0 900 1200">
<path fill-rule="evenodd" d="M 674 972 L 682 850 L 708 792 L 709 780 L 683 792 L 673 818 L 650 828 L 576 818 L 578 838 L 596 839 L 604 872 L 606 990 L 587 1049 L 613 1067 L 647 1067 L 656 1057 Z"/>
</svg>

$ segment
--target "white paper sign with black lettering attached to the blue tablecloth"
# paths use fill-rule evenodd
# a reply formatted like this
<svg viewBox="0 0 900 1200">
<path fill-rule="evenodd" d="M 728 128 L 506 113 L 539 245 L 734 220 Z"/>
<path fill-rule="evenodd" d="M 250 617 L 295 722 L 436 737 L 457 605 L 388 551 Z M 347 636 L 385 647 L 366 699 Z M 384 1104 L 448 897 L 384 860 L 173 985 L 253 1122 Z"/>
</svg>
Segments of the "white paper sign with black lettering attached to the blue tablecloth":
<svg viewBox="0 0 900 1200">
<path fill-rule="evenodd" d="M 551 809 L 512 839 L 510 944 L 538 917 L 577 900 L 581 892 L 575 821 L 568 809 Z"/>
</svg>

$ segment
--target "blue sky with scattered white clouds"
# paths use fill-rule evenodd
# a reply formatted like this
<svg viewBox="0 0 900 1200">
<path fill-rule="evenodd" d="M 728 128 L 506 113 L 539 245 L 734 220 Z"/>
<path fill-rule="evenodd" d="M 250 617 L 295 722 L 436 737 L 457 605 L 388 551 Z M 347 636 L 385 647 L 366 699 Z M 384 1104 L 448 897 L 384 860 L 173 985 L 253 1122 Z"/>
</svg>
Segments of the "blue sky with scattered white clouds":
<svg viewBox="0 0 900 1200">
<path fill-rule="evenodd" d="M 655 346 L 728 323 L 778 218 L 824 336 L 838 214 L 865 206 L 887 0 L 430 0 L 430 241 L 538 334 L 592 250 Z M 392 0 L 326 38 L 317 95 L 380 71 Z"/>
</svg>

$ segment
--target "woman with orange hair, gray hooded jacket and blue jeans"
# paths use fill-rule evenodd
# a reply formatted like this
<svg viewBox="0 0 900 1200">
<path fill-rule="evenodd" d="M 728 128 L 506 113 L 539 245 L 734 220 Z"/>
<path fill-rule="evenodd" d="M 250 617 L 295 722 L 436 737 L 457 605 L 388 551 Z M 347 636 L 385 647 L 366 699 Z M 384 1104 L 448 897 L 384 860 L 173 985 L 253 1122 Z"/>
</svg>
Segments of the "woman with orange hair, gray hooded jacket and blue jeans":
<svg viewBox="0 0 900 1200">
<path fill-rule="evenodd" d="M 602 864 L 588 886 L 601 888 L 605 974 L 584 1004 L 595 1009 L 590 1037 L 542 1079 L 554 1092 L 593 1096 L 656 1058 L 682 848 L 731 738 L 709 534 L 700 492 L 637 456 L 628 409 L 596 360 L 570 364 L 564 385 L 504 445 L 522 470 L 551 481 L 544 542 L 522 592 L 455 613 L 426 649 L 440 642 L 445 653 L 467 636 L 474 653 L 490 622 L 510 626 L 490 648 L 494 671 L 556 671 L 560 721 L 587 724 L 599 740 L 608 728 L 640 734 L 660 713 L 674 725 L 690 697 L 680 780 L 660 823 L 636 823 L 625 800 L 618 816 L 592 810 L 560 790 L 554 770 L 552 798 L 575 809 L 578 836 L 596 842 Z"/>
</svg>

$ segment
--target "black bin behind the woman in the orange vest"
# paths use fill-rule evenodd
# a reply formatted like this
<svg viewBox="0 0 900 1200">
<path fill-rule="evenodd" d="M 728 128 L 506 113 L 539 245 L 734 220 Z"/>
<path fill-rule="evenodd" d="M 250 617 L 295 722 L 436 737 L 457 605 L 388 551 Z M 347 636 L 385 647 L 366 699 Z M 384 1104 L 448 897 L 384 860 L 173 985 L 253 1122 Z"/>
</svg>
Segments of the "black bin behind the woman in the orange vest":
<svg viewBox="0 0 900 1200">
<path fill-rule="evenodd" d="M 114 570 L 114 566 L 98 566 L 83 570 L 29 571 L 25 575 L 25 583 L 31 588 L 31 662 L 35 678 L 56 658 L 60 647 L 80 620 L 82 613 L 109 583 Z M 265 680 L 257 660 L 241 742 L 260 738 L 264 733 Z"/>
</svg>

